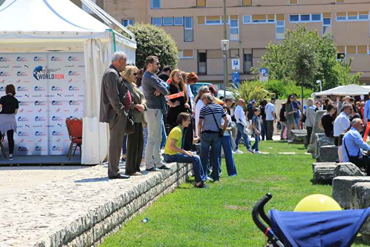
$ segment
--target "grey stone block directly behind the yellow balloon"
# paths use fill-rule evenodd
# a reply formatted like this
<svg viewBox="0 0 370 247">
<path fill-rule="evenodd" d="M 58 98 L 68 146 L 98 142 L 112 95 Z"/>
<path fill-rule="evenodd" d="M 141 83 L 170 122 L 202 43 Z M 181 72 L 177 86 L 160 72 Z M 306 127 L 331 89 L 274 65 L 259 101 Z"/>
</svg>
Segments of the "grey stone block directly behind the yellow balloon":
<svg viewBox="0 0 370 247">
<path fill-rule="evenodd" d="M 333 179 L 332 197 L 343 208 L 350 208 L 351 187 L 358 182 L 370 182 L 370 177 L 364 176 L 337 176 Z"/>
</svg>

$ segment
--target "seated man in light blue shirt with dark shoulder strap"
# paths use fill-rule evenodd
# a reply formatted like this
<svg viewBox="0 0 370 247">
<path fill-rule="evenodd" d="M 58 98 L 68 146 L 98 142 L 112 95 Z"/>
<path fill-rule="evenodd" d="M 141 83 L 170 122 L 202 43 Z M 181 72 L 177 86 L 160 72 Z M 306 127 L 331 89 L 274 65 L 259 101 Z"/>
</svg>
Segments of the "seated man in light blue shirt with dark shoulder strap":
<svg viewBox="0 0 370 247">
<path fill-rule="evenodd" d="M 368 166 L 370 164 L 369 152 L 363 153 L 363 150 L 370 150 L 370 146 L 364 142 L 360 132 L 364 130 L 364 123 L 359 118 L 352 120 L 352 127 L 345 133 L 343 137 L 343 160 L 344 162 L 352 162 L 357 167 L 364 169 L 370 175 Z"/>
</svg>

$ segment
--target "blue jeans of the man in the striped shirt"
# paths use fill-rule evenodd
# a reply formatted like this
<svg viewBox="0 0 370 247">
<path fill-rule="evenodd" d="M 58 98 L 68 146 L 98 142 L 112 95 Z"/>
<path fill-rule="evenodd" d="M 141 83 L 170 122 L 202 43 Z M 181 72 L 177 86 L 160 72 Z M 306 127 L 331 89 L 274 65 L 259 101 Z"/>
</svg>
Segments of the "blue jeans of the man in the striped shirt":
<svg viewBox="0 0 370 247">
<path fill-rule="evenodd" d="M 200 135 L 200 160 L 204 175 L 207 176 L 209 173 L 209 160 L 211 160 L 213 165 L 211 177 L 215 181 L 220 179 L 221 140 L 219 133 L 202 133 Z"/>
</svg>

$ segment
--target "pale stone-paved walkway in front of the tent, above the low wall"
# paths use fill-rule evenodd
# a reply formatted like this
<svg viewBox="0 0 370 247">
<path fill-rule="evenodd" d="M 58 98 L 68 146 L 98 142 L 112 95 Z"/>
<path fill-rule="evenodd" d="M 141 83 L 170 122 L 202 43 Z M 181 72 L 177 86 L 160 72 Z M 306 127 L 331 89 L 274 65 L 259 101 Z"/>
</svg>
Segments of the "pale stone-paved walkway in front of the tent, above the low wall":
<svg viewBox="0 0 370 247">
<path fill-rule="evenodd" d="M 107 165 L 102 164 L 69 170 L 69 175 L 57 176 L 39 186 L 20 189 L 11 195 L 3 193 L 0 247 L 31 247 L 41 237 L 63 229 L 87 211 L 115 198 L 117 191 L 123 194 L 155 176 L 145 172 L 129 179 L 108 179 L 107 169 Z M 124 171 L 123 164 L 120 169 Z M 15 176 L 14 181 L 17 179 Z"/>
</svg>

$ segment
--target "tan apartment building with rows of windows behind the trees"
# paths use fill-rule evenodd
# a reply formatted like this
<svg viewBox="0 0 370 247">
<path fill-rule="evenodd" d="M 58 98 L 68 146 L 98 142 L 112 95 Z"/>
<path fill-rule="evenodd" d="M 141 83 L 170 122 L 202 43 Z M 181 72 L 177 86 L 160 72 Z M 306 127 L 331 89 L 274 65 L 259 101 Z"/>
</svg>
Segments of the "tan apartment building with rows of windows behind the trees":
<svg viewBox="0 0 370 247">
<path fill-rule="evenodd" d="M 163 27 L 177 43 L 181 70 L 222 83 L 223 0 L 97 1 L 123 25 Z M 268 43 L 282 42 L 287 29 L 304 24 L 321 36 L 333 33 L 339 56 L 353 57 L 353 71 L 363 72 L 361 81 L 370 84 L 369 10 L 369 0 L 227 0 L 229 78 L 232 58 L 240 58 L 240 79 L 250 79 Z"/>
</svg>

